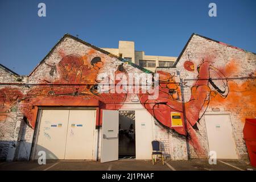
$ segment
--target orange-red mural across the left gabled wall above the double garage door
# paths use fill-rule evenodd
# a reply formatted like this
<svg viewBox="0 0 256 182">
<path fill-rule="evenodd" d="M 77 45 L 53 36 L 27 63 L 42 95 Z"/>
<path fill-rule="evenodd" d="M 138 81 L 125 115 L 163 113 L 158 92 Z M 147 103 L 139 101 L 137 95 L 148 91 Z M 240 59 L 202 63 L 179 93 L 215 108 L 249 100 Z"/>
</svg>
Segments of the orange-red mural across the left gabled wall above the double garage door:
<svg viewBox="0 0 256 182">
<path fill-rule="evenodd" d="M 42 83 L 32 86 L 24 95 L 19 88 L 0 90 L 1 121 L 18 102 L 20 110 L 24 113 L 24 121 L 32 129 L 35 128 L 38 106 L 97 106 L 100 109 L 119 109 L 122 106 L 127 93 L 98 93 L 100 80 L 97 80 L 97 75 L 104 67 L 104 58 L 96 56 L 88 61 L 91 55 L 65 55 L 64 52 L 60 55 L 63 57 L 57 65 L 44 63 L 50 69 L 50 76 L 58 72 L 60 78 L 47 84 L 44 82 L 47 80 L 42 78 Z M 116 73 L 127 74 L 122 64 Z M 114 84 L 117 82 L 118 80 Z M 101 122 L 97 121 L 96 125 L 101 125 Z"/>
</svg>

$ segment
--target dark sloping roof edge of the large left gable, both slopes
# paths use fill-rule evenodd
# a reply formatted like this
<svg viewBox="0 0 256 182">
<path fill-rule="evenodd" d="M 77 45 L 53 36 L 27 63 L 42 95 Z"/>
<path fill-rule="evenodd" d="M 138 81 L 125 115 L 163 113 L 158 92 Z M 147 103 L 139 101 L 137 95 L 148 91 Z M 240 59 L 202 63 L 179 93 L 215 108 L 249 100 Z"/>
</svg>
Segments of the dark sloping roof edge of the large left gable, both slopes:
<svg viewBox="0 0 256 182">
<path fill-rule="evenodd" d="M 135 67 L 135 68 L 138 68 L 138 69 L 140 69 L 140 70 L 143 71 L 143 72 L 146 72 L 146 73 L 154 73 L 154 72 L 149 71 L 149 70 L 146 69 L 146 68 L 140 67 L 140 66 L 137 65 L 137 64 L 128 62 L 127 60 L 122 59 L 122 57 L 118 57 L 118 56 L 116 56 L 116 55 L 113 55 L 112 53 L 110 53 L 110 52 L 108 52 L 108 51 L 105 51 L 104 49 L 101 49 L 101 48 L 98 48 L 98 47 L 96 47 L 96 46 L 93 46 L 92 44 L 89 44 L 89 43 L 85 42 L 84 40 L 81 40 L 81 39 L 79 39 L 79 38 L 76 38 L 76 37 L 73 36 L 73 35 L 65 34 L 65 35 L 59 40 L 59 42 L 57 42 L 57 43 L 55 44 L 55 46 L 53 46 L 53 48 L 51 49 L 51 51 L 49 51 L 49 52 L 47 53 L 47 55 L 43 58 L 43 60 L 40 61 L 40 63 L 34 68 L 34 70 L 33 70 L 33 71 L 30 73 L 30 75 L 28 75 L 28 76 L 31 76 L 32 73 L 36 70 L 36 68 L 38 68 L 39 65 L 43 64 L 44 61 L 46 61 L 47 57 L 48 57 L 49 55 L 51 55 L 51 53 L 53 52 L 53 50 L 54 50 L 57 46 L 59 46 L 59 44 L 60 44 L 65 38 L 74 39 L 74 40 L 76 40 L 77 42 L 80 42 L 80 43 L 84 44 L 85 46 L 88 46 L 88 47 L 91 47 L 91 48 L 93 48 L 93 49 L 96 49 L 97 51 L 100 51 L 100 52 L 102 52 L 102 53 L 105 53 L 106 55 L 109 55 L 109 56 L 111 56 L 111 57 L 115 57 L 116 59 L 122 61 L 123 63 L 128 63 L 128 64 L 130 64 L 131 66 L 133 66 L 133 67 Z"/>
</svg>

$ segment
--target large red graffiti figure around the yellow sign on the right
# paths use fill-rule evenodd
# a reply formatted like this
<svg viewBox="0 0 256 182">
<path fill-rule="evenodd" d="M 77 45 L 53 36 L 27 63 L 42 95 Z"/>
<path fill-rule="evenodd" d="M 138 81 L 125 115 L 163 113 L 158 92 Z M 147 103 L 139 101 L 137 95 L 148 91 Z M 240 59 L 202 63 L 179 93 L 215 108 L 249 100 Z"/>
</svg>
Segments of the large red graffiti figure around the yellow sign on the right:
<svg viewBox="0 0 256 182">
<path fill-rule="evenodd" d="M 191 64 L 189 63 L 189 68 Z M 209 61 L 202 61 L 197 67 L 198 76 L 195 85 L 191 88 L 191 98 L 188 102 L 184 103 L 185 110 L 183 109 L 183 102 L 180 100 L 180 86 L 174 80 L 174 74 L 163 71 L 159 73 L 159 97 L 156 100 L 149 100 L 149 93 L 139 93 L 138 97 L 144 107 L 154 116 L 154 118 L 162 123 L 162 125 L 174 129 L 181 135 L 188 135 L 189 142 L 195 148 L 196 152 L 202 152 L 199 141 L 197 139 L 195 129 L 201 117 L 207 110 L 209 105 L 210 96 L 220 94 L 222 97 L 228 95 L 228 82 L 225 80 L 224 75 L 214 68 Z M 217 74 L 223 78 L 222 87 L 216 86 L 213 80 L 210 79 L 210 73 Z M 219 78 L 218 77 L 218 78 Z M 180 113 L 182 126 L 172 126 L 171 113 Z M 184 113 L 187 121 L 187 130 L 184 125 Z"/>
</svg>

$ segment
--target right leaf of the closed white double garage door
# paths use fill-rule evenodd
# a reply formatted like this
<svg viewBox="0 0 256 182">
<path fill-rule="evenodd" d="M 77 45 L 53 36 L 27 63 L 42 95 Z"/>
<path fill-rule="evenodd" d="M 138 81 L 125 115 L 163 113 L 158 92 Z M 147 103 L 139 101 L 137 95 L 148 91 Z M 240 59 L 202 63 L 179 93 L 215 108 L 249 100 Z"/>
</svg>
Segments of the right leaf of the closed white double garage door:
<svg viewBox="0 0 256 182">
<path fill-rule="evenodd" d="M 65 159 L 93 159 L 95 110 L 70 110 Z"/>
</svg>

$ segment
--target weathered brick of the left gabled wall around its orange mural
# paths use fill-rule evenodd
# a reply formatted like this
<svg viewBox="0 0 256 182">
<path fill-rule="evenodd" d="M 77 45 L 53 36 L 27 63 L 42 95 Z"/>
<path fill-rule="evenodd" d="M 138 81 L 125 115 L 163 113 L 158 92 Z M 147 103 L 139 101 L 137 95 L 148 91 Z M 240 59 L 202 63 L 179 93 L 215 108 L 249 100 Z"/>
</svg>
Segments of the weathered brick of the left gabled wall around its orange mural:
<svg viewBox="0 0 256 182">
<path fill-rule="evenodd" d="M 1 104 L 9 106 L 11 105 L 11 110 L 7 111 L 3 109 L 3 111 L 7 115 L 6 118 L 1 118 L 0 121 L 0 139 L 1 139 L 1 150 L 0 150 L 0 159 L 7 159 L 7 160 L 29 160 L 30 158 L 30 151 L 31 151 L 31 144 L 32 139 L 34 137 L 34 128 L 31 128 L 31 126 L 28 125 L 30 122 L 24 121 L 23 117 L 26 116 L 27 118 L 32 117 L 34 115 L 35 107 L 32 105 L 28 105 L 27 103 L 30 103 L 29 101 L 31 99 L 34 99 L 36 97 L 42 97 L 47 96 L 49 94 L 49 91 L 53 89 L 55 93 L 58 94 L 65 94 L 68 92 L 73 93 L 76 91 L 76 88 L 81 88 L 85 86 L 68 86 L 68 85 L 54 85 L 54 86 L 45 86 L 45 85 L 38 85 L 38 84 L 52 84 L 55 83 L 56 80 L 60 79 L 61 72 L 64 72 L 64 70 L 61 70 L 61 67 L 56 67 L 56 72 L 53 71 L 53 74 L 50 74 L 51 69 L 53 65 L 59 64 L 59 61 L 62 59 L 64 55 L 79 55 L 84 56 L 84 60 L 92 60 L 93 57 L 101 57 L 101 60 L 104 62 L 104 67 L 100 69 L 98 74 L 101 73 L 108 73 L 117 71 L 117 68 L 119 65 L 122 64 L 122 61 L 118 60 L 116 57 L 111 55 L 106 55 L 105 53 L 102 53 L 96 49 L 93 49 L 92 47 L 86 46 L 85 44 L 82 44 L 80 42 L 77 42 L 77 40 L 72 38 L 65 38 L 60 44 L 58 44 L 55 49 L 46 57 L 46 59 L 43 61 L 43 63 L 40 63 L 38 67 L 35 68 L 35 70 L 31 73 L 30 76 L 24 76 L 22 78 L 22 81 L 17 81 L 15 76 L 11 75 L 9 72 L 6 72 L 3 69 L 0 69 L 0 80 L 2 83 L 6 83 L 6 85 L 1 85 L 1 88 L 7 88 L 7 92 L 3 92 L 1 90 L 2 96 L 2 102 Z M 143 73 L 140 69 L 134 68 L 133 66 L 129 64 L 123 64 L 123 67 L 125 68 L 127 73 Z M 86 77 L 87 80 L 93 80 L 95 77 L 90 77 L 91 75 L 88 75 Z M 94 81 L 94 80 L 93 80 Z M 61 80 L 61 84 L 74 84 L 75 80 L 72 80 L 70 78 L 69 80 Z M 28 84 L 28 85 L 18 85 L 18 86 L 12 86 L 9 85 L 9 83 L 12 84 Z M 90 84 L 90 83 L 89 83 Z M 47 87 L 47 88 L 46 88 Z M 12 91 L 10 88 L 15 88 L 16 90 L 20 90 L 20 92 L 23 94 L 22 97 L 16 98 L 15 92 Z M 33 91 L 31 93 L 31 90 Z M 28 97 L 29 96 L 29 97 Z M 84 96 L 84 99 L 90 98 L 89 96 Z M 65 96 L 61 96 L 63 100 L 65 100 Z M 75 99 L 75 96 L 74 96 Z M 43 98 L 42 98 L 43 100 Z M 132 102 L 132 100 L 137 100 L 137 102 Z M 15 102 L 14 102 L 15 101 Z M 106 98 L 106 102 L 115 102 L 113 98 Z M 11 102 L 11 104 L 9 103 Z M 15 104 L 14 104 L 15 103 Z M 138 96 L 137 94 L 128 94 L 125 103 L 127 104 L 138 104 Z M 122 103 L 121 103 L 122 104 Z M 26 111 L 26 115 L 24 115 L 24 108 Z M 26 120 L 26 118 L 25 118 Z M 18 133 L 16 137 L 14 136 L 15 131 L 15 125 L 17 122 L 20 122 L 20 129 L 18 130 Z M 15 146 L 12 147 L 12 150 L 14 150 L 15 154 L 10 153 L 10 146 L 11 143 L 15 143 Z M 100 146 L 99 146 L 100 147 Z M 10 153 L 10 157 L 8 159 L 7 154 Z M 15 155 L 15 156 L 14 156 Z M 100 156 L 100 150 L 99 150 L 99 156 Z"/>
</svg>

